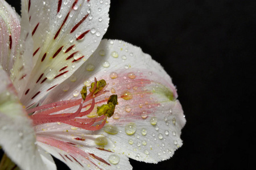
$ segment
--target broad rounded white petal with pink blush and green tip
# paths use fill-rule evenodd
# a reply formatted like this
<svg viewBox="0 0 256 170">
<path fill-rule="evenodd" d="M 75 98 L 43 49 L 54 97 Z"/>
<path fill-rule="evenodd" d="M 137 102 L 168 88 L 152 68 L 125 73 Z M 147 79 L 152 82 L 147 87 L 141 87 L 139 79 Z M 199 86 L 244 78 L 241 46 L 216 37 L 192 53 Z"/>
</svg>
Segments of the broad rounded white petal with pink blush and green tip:
<svg viewBox="0 0 256 170">
<path fill-rule="evenodd" d="M 113 135 L 105 128 L 93 133 L 103 134 L 114 143 L 114 147 L 108 145 L 105 149 L 157 163 L 170 158 L 182 145 L 185 118 L 170 76 L 148 54 L 127 42 L 102 40 L 93 56 L 73 75 L 76 83 L 65 80 L 44 104 L 80 98 L 82 86 L 89 86 L 94 77 L 105 79 L 109 83 L 106 90 L 110 90 L 96 97 L 96 107 L 105 104 L 109 95 L 119 97 L 115 113 L 106 124 L 115 126 L 118 133 Z"/>
</svg>

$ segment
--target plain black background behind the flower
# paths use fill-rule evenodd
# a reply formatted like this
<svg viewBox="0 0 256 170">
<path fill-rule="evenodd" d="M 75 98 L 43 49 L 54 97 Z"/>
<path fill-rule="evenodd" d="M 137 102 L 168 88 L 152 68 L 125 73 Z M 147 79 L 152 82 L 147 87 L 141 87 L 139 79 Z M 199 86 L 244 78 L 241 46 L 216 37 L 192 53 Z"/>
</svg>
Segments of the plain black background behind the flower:
<svg viewBox="0 0 256 170">
<path fill-rule="evenodd" d="M 7 2 L 20 11 L 19 1 Z M 130 160 L 135 170 L 253 169 L 255 7 L 252 0 L 111 2 L 104 37 L 140 46 L 161 63 L 187 119 L 174 158 Z"/>
</svg>

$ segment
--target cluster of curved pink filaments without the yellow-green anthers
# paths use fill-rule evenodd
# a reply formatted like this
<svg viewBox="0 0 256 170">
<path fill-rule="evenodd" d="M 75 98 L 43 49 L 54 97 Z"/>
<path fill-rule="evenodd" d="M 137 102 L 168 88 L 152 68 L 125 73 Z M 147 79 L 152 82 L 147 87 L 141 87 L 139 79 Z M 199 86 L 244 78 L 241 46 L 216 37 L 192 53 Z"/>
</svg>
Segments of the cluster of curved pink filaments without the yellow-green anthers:
<svg viewBox="0 0 256 170">
<path fill-rule="evenodd" d="M 97 84 L 97 79 L 94 79 L 94 83 Z M 27 113 L 32 113 L 32 116 L 30 116 L 33 120 L 34 125 L 40 125 L 40 124 L 47 124 L 52 122 L 62 122 L 64 124 L 72 125 L 77 128 L 82 128 L 86 130 L 99 130 L 101 129 L 105 123 L 106 123 L 106 116 L 101 116 L 97 118 L 76 118 L 76 117 L 82 117 L 89 113 L 91 113 L 95 106 L 95 97 L 100 96 L 104 94 L 105 88 L 97 94 L 93 94 L 96 90 L 96 86 L 94 86 L 93 91 L 90 92 L 88 96 L 86 96 L 86 99 L 82 101 L 82 99 L 76 99 L 76 100 L 66 100 L 66 101 L 57 101 L 56 103 L 51 103 L 47 105 L 42 105 L 40 107 L 28 109 Z M 81 112 L 82 108 L 85 108 L 86 106 L 83 106 L 82 104 L 86 101 L 92 100 L 92 104 L 90 105 L 90 108 L 84 112 Z M 76 107 L 79 105 L 79 108 L 75 113 L 59 113 L 59 114 L 51 114 L 56 113 L 59 111 L 63 111 L 64 109 Z M 43 110 L 43 111 L 42 111 Z M 104 121 L 102 121 L 104 120 Z M 95 122 L 102 121 L 100 125 L 92 126 Z"/>
</svg>

